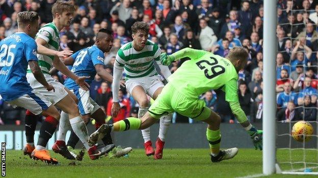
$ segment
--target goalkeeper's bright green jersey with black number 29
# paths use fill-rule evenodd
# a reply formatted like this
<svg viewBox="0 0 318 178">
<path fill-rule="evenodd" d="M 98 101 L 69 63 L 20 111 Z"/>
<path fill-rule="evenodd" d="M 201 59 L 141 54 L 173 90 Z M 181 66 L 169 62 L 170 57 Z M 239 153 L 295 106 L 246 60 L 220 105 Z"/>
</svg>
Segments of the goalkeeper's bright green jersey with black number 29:
<svg viewBox="0 0 318 178">
<path fill-rule="evenodd" d="M 186 48 L 172 54 L 176 59 L 190 57 L 168 79 L 176 90 L 189 98 L 198 98 L 211 89 L 222 89 L 225 100 L 238 102 L 237 72 L 226 58 L 203 50 Z"/>
</svg>

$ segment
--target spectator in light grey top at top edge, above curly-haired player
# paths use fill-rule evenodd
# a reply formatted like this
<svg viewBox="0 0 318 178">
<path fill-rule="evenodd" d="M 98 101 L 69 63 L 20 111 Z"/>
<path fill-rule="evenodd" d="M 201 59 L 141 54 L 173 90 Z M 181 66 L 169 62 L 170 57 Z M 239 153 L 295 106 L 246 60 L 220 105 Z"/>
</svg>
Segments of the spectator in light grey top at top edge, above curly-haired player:
<svg viewBox="0 0 318 178">
<path fill-rule="evenodd" d="M 123 22 L 125 22 L 127 19 L 129 19 L 131 11 L 133 10 L 130 6 L 129 0 L 123 0 L 122 3 L 118 2 L 111 10 L 111 14 L 113 14 L 114 11 L 118 12 L 119 19 Z"/>
</svg>

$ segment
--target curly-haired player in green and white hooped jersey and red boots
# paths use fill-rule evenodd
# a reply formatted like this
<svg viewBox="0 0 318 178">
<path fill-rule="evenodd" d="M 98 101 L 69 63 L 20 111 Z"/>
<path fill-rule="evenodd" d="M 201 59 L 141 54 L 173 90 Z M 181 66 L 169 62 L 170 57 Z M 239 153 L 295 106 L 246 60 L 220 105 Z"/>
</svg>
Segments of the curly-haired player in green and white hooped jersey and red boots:
<svg viewBox="0 0 318 178">
<path fill-rule="evenodd" d="M 120 105 L 118 102 L 119 81 L 122 71 L 126 74 L 126 88 L 139 104 L 138 118 L 142 118 L 149 109 L 147 94 L 156 99 L 161 93 L 164 84 L 154 68 L 154 61 L 160 67 L 164 77 L 168 80 L 171 75 L 167 66 L 160 62 L 161 49 L 157 44 L 147 40 L 149 25 L 145 22 L 135 22 L 131 26 L 133 41 L 123 45 L 117 52 L 114 63 L 113 81 L 113 117 L 116 117 Z M 144 147 L 147 156 L 154 155 L 155 159 L 161 159 L 165 144 L 165 135 L 170 125 L 172 115 L 163 116 L 160 120 L 159 135 L 156 140 L 154 152 L 150 140 L 150 127 L 142 130 Z"/>
</svg>

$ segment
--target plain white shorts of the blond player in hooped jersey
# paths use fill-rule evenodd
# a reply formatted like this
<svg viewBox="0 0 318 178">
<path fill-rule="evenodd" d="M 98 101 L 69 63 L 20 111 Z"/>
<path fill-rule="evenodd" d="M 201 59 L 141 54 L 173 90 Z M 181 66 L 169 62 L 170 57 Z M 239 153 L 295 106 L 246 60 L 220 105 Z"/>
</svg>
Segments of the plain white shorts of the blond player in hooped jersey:
<svg viewBox="0 0 318 178">
<path fill-rule="evenodd" d="M 43 75 L 45 77 L 46 82 L 54 87 L 55 92 L 52 90 L 47 91 L 46 88 L 35 79 L 32 73 L 26 74 L 26 80 L 28 80 L 28 82 L 30 83 L 30 86 L 35 91 L 40 92 L 42 95 L 46 96 L 52 102 L 52 104 L 56 104 L 61 99 L 63 99 L 68 93 L 64 89 L 65 88 L 64 85 L 61 84 L 59 81 L 52 78 L 48 74 L 43 74 Z"/>
</svg>

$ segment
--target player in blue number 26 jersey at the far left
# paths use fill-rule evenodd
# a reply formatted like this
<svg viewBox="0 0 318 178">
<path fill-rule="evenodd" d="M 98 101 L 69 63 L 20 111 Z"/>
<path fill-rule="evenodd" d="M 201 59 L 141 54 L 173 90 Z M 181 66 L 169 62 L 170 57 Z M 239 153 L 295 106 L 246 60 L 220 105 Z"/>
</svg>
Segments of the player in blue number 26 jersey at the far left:
<svg viewBox="0 0 318 178">
<path fill-rule="evenodd" d="M 39 28 L 39 16 L 36 12 L 20 12 L 17 15 L 18 32 L 0 42 L 0 94 L 8 103 L 21 106 L 35 115 L 49 115 L 49 120 L 43 122 L 40 129 L 40 138 L 54 133 L 53 124 L 57 124 L 60 113 L 50 100 L 31 88 L 26 81 L 26 68 L 29 68 L 46 91 L 56 91 L 49 84 L 38 64 L 37 44 L 34 41 Z M 41 147 L 40 141 L 38 146 Z M 37 147 L 38 147 L 37 146 Z M 44 148 L 40 151 L 47 158 L 49 153 Z M 35 158 L 41 159 L 37 156 Z M 50 157 L 49 157 L 50 158 Z M 55 159 L 45 159 L 53 163 Z"/>
</svg>

